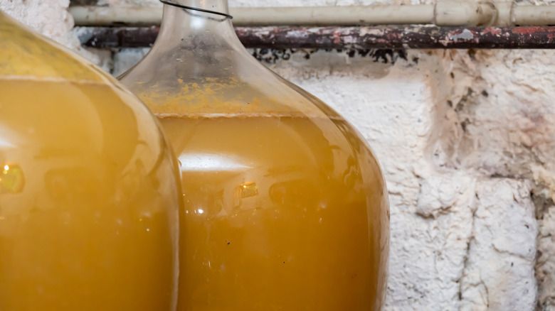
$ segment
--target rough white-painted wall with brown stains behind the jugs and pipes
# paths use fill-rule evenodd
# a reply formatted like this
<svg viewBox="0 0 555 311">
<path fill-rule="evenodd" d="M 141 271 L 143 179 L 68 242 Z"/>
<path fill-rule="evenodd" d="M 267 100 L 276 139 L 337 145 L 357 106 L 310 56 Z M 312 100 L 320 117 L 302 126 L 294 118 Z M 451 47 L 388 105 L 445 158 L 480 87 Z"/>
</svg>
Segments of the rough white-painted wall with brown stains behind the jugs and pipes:
<svg viewBox="0 0 555 311">
<path fill-rule="evenodd" d="M 0 9 L 78 48 L 67 6 L 0 0 Z M 113 64 L 109 52 L 93 59 L 118 75 L 146 51 L 115 53 Z M 555 51 L 256 53 L 341 112 L 381 160 L 391 202 L 386 310 L 555 310 Z"/>
</svg>

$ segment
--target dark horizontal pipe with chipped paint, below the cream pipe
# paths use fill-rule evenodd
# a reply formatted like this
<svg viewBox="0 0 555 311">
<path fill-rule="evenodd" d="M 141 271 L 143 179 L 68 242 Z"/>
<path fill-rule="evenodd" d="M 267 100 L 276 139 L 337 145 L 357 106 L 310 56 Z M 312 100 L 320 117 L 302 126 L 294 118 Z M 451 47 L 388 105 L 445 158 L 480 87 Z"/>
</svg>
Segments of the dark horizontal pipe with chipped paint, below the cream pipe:
<svg viewBox="0 0 555 311">
<path fill-rule="evenodd" d="M 95 48 L 138 48 L 154 43 L 159 28 L 79 28 Z M 237 27 L 247 48 L 448 49 L 555 48 L 555 27 Z"/>
</svg>

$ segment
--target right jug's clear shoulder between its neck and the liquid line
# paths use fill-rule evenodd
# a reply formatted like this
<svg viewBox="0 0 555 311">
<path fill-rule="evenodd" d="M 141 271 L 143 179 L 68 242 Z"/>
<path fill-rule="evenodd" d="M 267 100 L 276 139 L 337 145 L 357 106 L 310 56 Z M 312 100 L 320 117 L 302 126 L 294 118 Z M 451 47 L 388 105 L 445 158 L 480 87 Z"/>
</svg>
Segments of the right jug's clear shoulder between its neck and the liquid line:
<svg viewBox="0 0 555 311">
<path fill-rule="evenodd" d="M 310 114 L 332 111 L 243 48 L 154 45 L 118 78 L 155 114 Z M 324 111 L 324 113 L 322 113 Z"/>
</svg>

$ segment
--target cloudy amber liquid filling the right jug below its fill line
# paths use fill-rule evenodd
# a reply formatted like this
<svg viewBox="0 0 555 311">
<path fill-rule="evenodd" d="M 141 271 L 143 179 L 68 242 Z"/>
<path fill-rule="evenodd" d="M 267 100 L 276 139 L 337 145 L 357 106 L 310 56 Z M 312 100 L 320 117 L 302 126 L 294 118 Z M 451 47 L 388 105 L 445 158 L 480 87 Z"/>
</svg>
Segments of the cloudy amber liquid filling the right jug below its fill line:
<svg viewBox="0 0 555 311">
<path fill-rule="evenodd" d="M 165 116 L 186 211 L 178 310 L 378 310 L 379 166 L 342 120 Z"/>
</svg>

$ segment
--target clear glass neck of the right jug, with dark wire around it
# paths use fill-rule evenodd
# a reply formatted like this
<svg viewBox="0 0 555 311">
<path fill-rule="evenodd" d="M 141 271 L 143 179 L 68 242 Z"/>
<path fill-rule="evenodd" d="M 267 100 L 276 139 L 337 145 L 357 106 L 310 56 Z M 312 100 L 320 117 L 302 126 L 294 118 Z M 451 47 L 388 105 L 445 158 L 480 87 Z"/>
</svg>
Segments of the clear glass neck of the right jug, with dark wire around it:
<svg viewBox="0 0 555 311">
<path fill-rule="evenodd" d="M 172 4 L 228 13 L 227 0 L 167 0 Z M 164 16 L 156 45 L 184 47 L 240 45 L 231 18 L 216 13 L 164 4 Z"/>
</svg>

